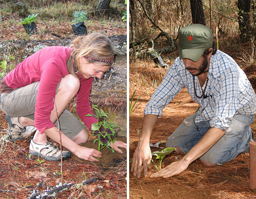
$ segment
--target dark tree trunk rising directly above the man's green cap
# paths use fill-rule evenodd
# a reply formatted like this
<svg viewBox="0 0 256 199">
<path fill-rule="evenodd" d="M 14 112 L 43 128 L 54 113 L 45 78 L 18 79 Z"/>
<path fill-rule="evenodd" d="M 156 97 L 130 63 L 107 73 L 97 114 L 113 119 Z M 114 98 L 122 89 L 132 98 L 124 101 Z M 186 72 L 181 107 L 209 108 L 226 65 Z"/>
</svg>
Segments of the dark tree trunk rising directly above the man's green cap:
<svg viewBox="0 0 256 199">
<path fill-rule="evenodd" d="M 192 23 L 206 25 L 202 0 L 190 0 Z"/>
</svg>

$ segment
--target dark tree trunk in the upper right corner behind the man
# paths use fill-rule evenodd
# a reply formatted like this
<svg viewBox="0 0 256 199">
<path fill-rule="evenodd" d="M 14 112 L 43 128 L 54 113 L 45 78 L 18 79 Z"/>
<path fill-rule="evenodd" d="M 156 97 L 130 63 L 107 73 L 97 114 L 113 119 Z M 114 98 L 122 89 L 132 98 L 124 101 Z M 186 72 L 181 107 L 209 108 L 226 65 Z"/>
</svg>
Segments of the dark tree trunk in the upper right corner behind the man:
<svg viewBox="0 0 256 199">
<path fill-rule="evenodd" d="M 238 0 L 238 24 L 240 29 L 240 38 L 242 42 L 247 42 L 250 39 L 250 5 L 251 0 Z"/>
</svg>

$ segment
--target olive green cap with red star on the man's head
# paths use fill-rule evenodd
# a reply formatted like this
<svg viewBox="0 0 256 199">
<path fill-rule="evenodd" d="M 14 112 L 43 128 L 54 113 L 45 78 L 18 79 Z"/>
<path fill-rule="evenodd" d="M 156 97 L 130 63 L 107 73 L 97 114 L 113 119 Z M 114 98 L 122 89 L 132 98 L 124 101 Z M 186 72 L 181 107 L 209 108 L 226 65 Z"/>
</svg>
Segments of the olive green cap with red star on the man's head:
<svg viewBox="0 0 256 199">
<path fill-rule="evenodd" d="M 180 59 L 198 61 L 205 49 L 212 47 L 212 30 L 202 24 L 191 24 L 178 33 Z"/>
</svg>

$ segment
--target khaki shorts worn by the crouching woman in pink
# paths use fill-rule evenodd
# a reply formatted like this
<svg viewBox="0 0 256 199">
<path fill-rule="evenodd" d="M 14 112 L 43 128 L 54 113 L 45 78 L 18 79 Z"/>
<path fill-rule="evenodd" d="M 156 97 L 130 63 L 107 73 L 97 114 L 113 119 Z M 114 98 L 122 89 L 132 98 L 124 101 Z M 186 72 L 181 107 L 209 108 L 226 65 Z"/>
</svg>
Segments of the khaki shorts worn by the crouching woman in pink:
<svg viewBox="0 0 256 199">
<path fill-rule="evenodd" d="M 26 117 L 34 120 L 39 83 L 38 81 L 22 88 L 14 89 L 11 93 L 2 93 L 0 95 L 0 109 L 11 117 Z M 57 89 L 59 86 L 60 82 Z M 59 115 L 59 122 L 60 131 L 70 139 L 74 138 L 85 128 L 79 119 L 66 109 Z M 58 128 L 57 121 L 54 124 Z"/>
</svg>

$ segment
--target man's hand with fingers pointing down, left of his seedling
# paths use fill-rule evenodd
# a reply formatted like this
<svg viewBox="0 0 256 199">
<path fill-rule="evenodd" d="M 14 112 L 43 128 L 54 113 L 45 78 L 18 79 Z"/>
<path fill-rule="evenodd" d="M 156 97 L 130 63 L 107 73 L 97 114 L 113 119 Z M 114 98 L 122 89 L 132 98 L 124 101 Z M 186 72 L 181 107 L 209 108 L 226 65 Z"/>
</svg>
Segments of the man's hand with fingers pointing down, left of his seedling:
<svg viewBox="0 0 256 199">
<path fill-rule="evenodd" d="M 133 155 L 133 163 L 131 164 L 131 172 L 134 171 L 134 176 L 141 177 L 142 165 L 144 169 L 144 176 L 147 176 L 147 169 L 150 169 L 150 161 L 152 154 L 150 146 L 137 147 Z"/>
</svg>

